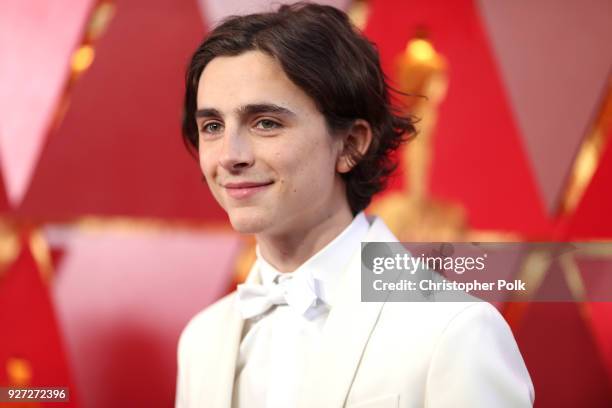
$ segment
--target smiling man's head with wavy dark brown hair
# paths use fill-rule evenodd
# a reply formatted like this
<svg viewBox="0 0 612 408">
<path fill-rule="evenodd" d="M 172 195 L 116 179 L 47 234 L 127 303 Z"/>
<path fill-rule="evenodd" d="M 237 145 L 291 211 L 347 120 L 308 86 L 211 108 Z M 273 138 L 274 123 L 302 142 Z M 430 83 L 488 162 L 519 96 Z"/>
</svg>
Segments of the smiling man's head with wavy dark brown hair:
<svg viewBox="0 0 612 408">
<path fill-rule="evenodd" d="M 244 232 L 363 210 L 414 132 L 391 107 L 373 45 L 328 6 L 225 20 L 196 50 L 186 87 L 184 139 Z"/>
</svg>

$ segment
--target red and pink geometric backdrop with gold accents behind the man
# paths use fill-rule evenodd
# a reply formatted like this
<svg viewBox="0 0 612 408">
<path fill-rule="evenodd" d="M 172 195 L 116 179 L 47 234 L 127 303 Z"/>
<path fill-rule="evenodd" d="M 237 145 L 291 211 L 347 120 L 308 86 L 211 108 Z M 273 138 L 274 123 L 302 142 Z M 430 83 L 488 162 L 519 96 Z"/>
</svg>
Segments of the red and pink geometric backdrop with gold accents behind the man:
<svg viewBox="0 0 612 408">
<path fill-rule="evenodd" d="M 252 251 L 182 144 L 184 69 L 224 16 L 278 3 L 0 2 L 0 387 L 173 404 L 181 329 Z M 611 2 L 323 3 L 350 13 L 397 87 L 425 78 L 411 90 L 429 96 L 415 142 L 431 162 L 409 146 L 371 212 L 429 214 L 429 240 L 612 241 Z M 581 302 L 497 305 L 537 407 L 612 406 L 612 304 L 588 302 L 612 258 L 575 263 Z M 544 270 L 543 290 L 563 273 Z"/>
</svg>

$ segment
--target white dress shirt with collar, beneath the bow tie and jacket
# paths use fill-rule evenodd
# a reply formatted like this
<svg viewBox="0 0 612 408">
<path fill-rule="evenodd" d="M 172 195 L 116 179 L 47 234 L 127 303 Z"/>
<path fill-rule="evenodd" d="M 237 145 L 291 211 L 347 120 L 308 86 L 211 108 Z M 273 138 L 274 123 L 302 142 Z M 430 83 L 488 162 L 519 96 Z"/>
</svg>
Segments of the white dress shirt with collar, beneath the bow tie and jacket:
<svg viewBox="0 0 612 408">
<path fill-rule="evenodd" d="M 311 282 L 318 299 L 306 312 L 277 305 L 245 322 L 232 398 L 234 408 L 288 408 L 297 405 L 298 386 L 309 356 L 316 353 L 334 304 L 340 274 L 369 228 L 363 212 L 323 249 L 290 273 L 281 273 L 257 253 L 264 286 L 287 279 Z M 308 294 L 304 294 L 304 297 Z"/>
</svg>

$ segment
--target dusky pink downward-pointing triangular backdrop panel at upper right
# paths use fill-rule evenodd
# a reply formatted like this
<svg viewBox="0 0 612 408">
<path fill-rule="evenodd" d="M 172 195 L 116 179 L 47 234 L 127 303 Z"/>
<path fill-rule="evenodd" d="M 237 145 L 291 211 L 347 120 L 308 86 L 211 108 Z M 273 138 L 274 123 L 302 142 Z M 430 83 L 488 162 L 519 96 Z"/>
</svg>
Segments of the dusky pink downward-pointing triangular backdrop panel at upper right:
<svg viewBox="0 0 612 408">
<path fill-rule="evenodd" d="M 554 214 L 607 92 L 612 2 L 479 4 L 539 191 Z"/>
</svg>

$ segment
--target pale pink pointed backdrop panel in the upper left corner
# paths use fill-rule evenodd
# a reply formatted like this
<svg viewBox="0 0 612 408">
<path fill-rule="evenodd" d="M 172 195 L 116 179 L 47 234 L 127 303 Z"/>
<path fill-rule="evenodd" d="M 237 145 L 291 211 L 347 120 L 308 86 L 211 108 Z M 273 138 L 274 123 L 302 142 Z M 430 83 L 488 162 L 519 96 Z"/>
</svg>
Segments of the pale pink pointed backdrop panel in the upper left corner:
<svg viewBox="0 0 612 408">
<path fill-rule="evenodd" d="M 93 3 L 0 2 L 0 168 L 13 206 L 30 184 Z"/>
</svg>

